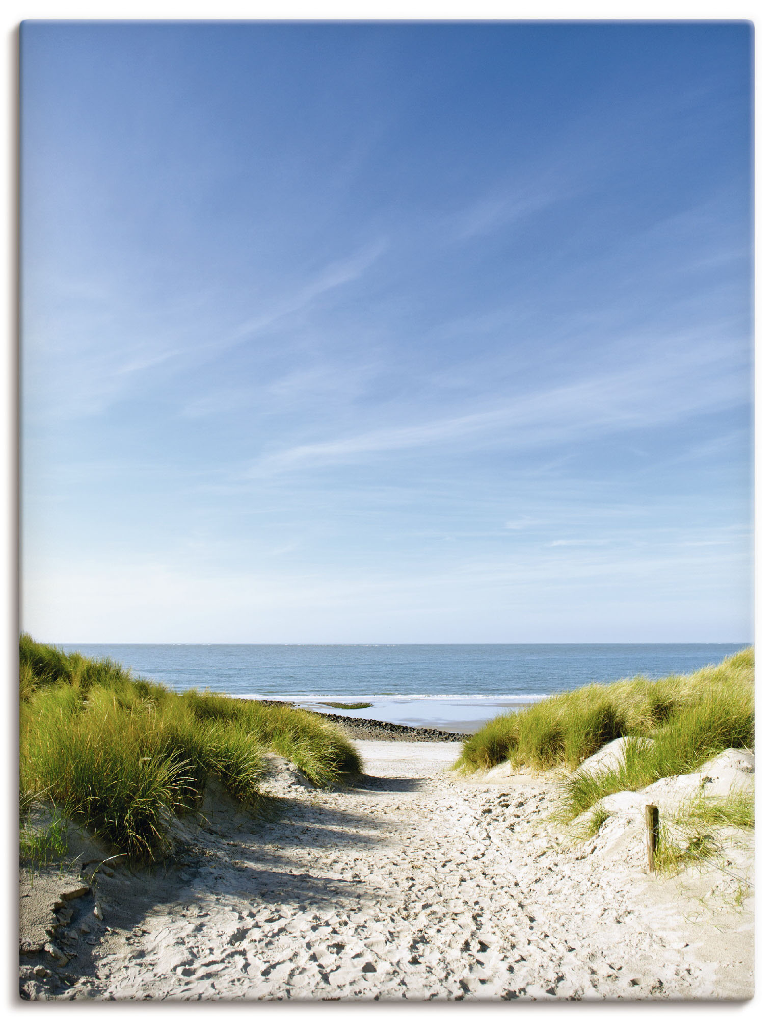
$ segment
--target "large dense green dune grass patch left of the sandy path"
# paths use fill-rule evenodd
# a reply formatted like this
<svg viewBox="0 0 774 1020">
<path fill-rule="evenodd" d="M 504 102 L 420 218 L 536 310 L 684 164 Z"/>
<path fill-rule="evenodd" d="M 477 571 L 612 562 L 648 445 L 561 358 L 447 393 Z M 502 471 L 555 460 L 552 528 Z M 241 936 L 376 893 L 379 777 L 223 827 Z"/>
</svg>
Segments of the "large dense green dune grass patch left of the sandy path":
<svg viewBox="0 0 774 1020">
<path fill-rule="evenodd" d="M 311 712 L 196 691 L 176 695 L 109 659 L 19 642 L 20 789 L 37 792 L 134 859 L 164 856 L 173 813 L 195 808 L 210 777 L 261 803 L 265 754 L 315 783 L 357 772 L 357 752 Z"/>
</svg>

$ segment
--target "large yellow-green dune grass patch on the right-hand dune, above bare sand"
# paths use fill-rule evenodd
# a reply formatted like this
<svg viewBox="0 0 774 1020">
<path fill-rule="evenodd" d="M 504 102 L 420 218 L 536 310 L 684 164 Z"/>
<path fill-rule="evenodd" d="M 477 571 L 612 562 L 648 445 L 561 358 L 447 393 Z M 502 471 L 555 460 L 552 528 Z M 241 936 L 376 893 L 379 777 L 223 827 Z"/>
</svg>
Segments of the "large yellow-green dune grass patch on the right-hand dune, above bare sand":
<svg viewBox="0 0 774 1020">
<path fill-rule="evenodd" d="M 493 719 L 465 742 L 456 766 L 473 771 L 510 760 L 514 767 L 572 770 L 609 741 L 631 737 L 618 768 L 569 777 L 565 803 L 574 817 L 607 794 L 692 771 L 725 748 L 752 747 L 754 665 L 748 648 L 684 676 L 554 695 Z"/>
</svg>

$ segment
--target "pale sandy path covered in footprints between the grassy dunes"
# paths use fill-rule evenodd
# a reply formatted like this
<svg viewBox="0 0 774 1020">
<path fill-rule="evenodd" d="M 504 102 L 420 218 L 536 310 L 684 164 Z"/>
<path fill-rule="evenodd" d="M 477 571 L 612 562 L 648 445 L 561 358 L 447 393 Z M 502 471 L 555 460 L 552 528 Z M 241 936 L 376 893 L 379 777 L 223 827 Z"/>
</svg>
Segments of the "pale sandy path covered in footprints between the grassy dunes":
<svg viewBox="0 0 774 1020">
<path fill-rule="evenodd" d="M 721 919 L 718 967 L 674 883 L 562 852 L 549 783 L 460 782 L 443 771 L 453 744 L 358 747 L 372 778 L 356 789 L 293 786 L 268 823 L 213 808 L 166 902 L 120 872 L 101 879 L 110 927 L 66 997 L 750 993 L 739 911 Z"/>
</svg>

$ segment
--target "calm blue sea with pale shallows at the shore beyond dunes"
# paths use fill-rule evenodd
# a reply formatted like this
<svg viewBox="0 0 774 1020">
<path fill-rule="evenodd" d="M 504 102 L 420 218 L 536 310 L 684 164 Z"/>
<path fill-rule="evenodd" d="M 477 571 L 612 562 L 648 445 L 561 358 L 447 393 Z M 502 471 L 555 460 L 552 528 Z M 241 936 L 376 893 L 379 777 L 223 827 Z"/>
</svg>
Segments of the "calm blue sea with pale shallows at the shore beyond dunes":
<svg viewBox="0 0 774 1020">
<path fill-rule="evenodd" d="M 173 691 L 290 702 L 352 718 L 474 732 L 559 691 L 656 679 L 745 645 L 63 645 Z M 327 702 L 335 702 L 336 706 Z M 342 705 L 367 703 L 364 708 Z"/>
</svg>

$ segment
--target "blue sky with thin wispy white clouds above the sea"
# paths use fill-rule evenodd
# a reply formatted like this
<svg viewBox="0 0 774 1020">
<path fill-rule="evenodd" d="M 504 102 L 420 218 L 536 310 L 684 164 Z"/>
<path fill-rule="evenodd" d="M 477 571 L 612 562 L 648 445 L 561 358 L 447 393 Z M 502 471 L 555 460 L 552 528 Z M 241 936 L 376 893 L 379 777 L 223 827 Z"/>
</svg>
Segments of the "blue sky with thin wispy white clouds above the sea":
<svg viewBox="0 0 774 1020">
<path fill-rule="evenodd" d="M 35 636 L 752 640 L 747 23 L 21 36 Z"/>
</svg>

